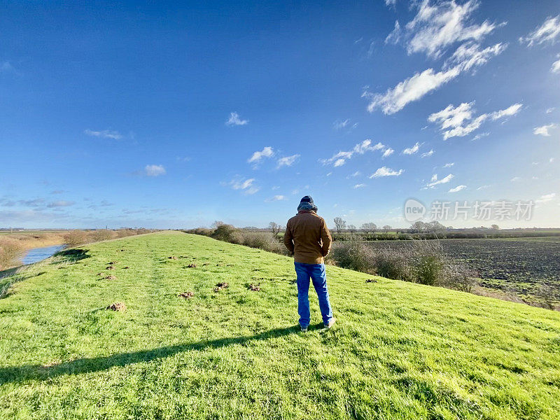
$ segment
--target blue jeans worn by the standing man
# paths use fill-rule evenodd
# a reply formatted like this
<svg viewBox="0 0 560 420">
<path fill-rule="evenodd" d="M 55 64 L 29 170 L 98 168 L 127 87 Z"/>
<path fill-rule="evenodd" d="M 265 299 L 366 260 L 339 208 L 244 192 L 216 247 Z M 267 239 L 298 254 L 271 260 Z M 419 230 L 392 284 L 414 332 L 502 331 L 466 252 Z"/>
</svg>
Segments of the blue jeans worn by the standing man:
<svg viewBox="0 0 560 420">
<path fill-rule="evenodd" d="M 332 318 L 332 308 L 328 300 L 327 274 L 324 264 L 304 264 L 294 262 L 295 274 L 297 274 L 297 313 L 300 314 L 300 325 L 303 328 L 309 326 L 309 277 L 317 292 L 319 308 L 323 316 L 323 323 L 327 324 Z"/>
</svg>

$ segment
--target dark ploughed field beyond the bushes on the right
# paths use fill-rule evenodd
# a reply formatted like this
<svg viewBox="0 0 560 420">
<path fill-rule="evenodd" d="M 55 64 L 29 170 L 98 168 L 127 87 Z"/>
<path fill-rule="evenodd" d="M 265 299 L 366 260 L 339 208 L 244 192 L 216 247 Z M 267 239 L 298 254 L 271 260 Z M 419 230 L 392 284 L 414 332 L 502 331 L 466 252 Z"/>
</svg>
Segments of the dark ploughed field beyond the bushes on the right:
<svg viewBox="0 0 560 420">
<path fill-rule="evenodd" d="M 374 247 L 410 246 L 409 241 L 371 241 Z M 524 239 L 443 239 L 444 253 L 477 270 L 480 286 L 538 300 L 560 300 L 560 237 Z M 545 290 L 546 289 L 546 290 Z"/>
</svg>

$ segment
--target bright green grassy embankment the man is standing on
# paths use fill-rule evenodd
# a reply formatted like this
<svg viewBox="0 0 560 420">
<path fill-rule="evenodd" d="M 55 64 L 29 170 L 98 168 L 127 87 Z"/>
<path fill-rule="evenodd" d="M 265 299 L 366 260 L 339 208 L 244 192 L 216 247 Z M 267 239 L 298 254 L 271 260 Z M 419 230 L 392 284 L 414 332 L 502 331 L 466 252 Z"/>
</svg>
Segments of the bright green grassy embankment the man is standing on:
<svg viewBox="0 0 560 420">
<path fill-rule="evenodd" d="M 328 267 L 339 321 L 303 334 L 289 258 L 179 232 L 84 248 L 73 264 L 57 257 L 20 273 L 0 300 L 1 419 L 560 411 L 558 312 Z M 105 270 L 111 260 L 117 269 Z M 230 287 L 216 293 L 218 281 Z M 260 292 L 246 288 L 259 282 Z M 177 297 L 187 290 L 195 297 Z M 102 309 L 116 301 L 127 311 Z"/>
</svg>

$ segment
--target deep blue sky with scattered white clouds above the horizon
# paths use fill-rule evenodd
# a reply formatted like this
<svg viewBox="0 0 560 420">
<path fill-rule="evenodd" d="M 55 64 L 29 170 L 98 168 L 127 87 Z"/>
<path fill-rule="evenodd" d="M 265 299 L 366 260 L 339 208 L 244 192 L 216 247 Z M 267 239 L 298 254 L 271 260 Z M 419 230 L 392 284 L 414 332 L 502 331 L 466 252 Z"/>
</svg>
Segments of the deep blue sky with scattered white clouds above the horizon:
<svg viewBox="0 0 560 420">
<path fill-rule="evenodd" d="M 560 226 L 558 1 L 7 1 L 0 23 L 0 226 L 264 226 L 307 194 L 329 225 L 405 227 L 414 197 Z"/>
</svg>

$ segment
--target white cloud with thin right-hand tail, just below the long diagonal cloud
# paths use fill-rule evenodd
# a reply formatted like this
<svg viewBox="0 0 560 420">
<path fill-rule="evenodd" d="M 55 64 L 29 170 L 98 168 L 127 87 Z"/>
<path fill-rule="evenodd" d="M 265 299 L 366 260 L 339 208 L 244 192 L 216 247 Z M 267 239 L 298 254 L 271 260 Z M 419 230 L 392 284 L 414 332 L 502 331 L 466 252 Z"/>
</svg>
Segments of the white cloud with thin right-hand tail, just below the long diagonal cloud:
<svg viewBox="0 0 560 420">
<path fill-rule="evenodd" d="M 483 113 L 475 117 L 474 104 L 474 102 L 463 102 L 463 104 L 457 107 L 448 105 L 442 111 L 431 114 L 428 117 L 428 121 L 430 123 L 439 123 L 440 130 L 443 132 L 443 139 L 447 140 L 451 137 L 464 137 L 478 130 L 482 123 L 489 118 L 491 120 L 498 120 L 507 116 L 514 116 L 523 106 L 522 104 L 513 104 L 506 109 L 492 113 Z M 475 139 L 479 139 L 479 137 L 475 137 Z"/>
</svg>

